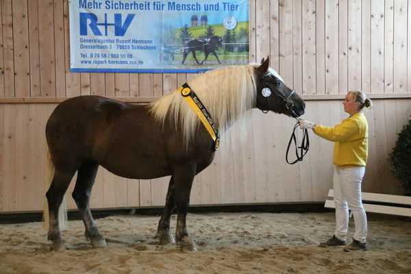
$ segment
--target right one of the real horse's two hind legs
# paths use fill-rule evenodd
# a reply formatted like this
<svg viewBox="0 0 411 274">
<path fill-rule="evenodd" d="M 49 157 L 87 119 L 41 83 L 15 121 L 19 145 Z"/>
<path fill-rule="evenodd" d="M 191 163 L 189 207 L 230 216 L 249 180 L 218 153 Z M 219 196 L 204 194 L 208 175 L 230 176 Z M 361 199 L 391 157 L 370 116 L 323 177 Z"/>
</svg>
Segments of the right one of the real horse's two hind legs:
<svg viewBox="0 0 411 274">
<path fill-rule="evenodd" d="M 77 173 L 77 181 L 73 191 L 73 199 L 82 215 L 86 227 L 86 238 L 90 239 L 92 247 L 105 247 L 105 238 L 100 234 L 90 211 L 90 195 L 92 185 L 99 169 L 99 164 L 92 160 L 83 162 Z"/>
</svg>

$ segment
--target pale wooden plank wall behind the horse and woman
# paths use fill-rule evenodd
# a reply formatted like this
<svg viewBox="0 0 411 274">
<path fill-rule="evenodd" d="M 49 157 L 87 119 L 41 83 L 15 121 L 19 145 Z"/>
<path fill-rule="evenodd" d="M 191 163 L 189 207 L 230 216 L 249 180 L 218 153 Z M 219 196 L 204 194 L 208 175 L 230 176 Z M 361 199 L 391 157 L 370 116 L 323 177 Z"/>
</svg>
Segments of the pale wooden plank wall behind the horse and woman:
<svg viewBox="0 0 411 274">
<path fill-rule="evenodd" d="M 0 212 L 42 210 L 44 129 L 57 103 L 78 95 L 142 103 L 195 77 L 71 73 L 68 12 L 67 0 L 0 1 Z M 364 90 L 373 99 L 366 112 L 363 190 L 369 192 L 401 194 L 387 158 L 411 115 L 409 14 L 407 0 L 250 0 L 250 61 L 270 55 L 271 66 L 306 99 L 305 119 L 330 126 L 344 119 L 347 90 Z M 332 143 L 310 134 L 307 158 L 290 166 L 284 155 L 295 121 L 257 110 L 249 116 L 246 141 L 227 158 L 218 153 L 195 178 L 191 204 L 324 201 L 332 186 Z M 223 142 L 236 134 L 230 129 Z M 162 206 L 168 179 L 125 179 L 101 169 L 92 207 Z"/>
</svg>

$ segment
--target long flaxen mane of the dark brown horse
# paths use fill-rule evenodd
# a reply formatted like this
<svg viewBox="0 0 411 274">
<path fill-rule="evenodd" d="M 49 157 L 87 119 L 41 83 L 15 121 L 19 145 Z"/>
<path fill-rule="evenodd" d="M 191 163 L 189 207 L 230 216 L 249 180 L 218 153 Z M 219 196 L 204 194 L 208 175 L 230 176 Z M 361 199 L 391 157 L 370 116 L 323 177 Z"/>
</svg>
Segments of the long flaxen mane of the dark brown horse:
<svg viewBox="0 0 411 274">
<path fill-rule="evenodd" d="M 208 71 L 190 79 L 187 84 L 198 95 L 221 133 L 239 119 L 246 110 L 256 105 L 256 75 L 258 64 L 229 66 L 225 69 Z M 280 80 L 273 69 L 269 69 Z M 149 105 L 150 112 L 160 123 L 166 117 L 173 119 L 175 127 L 182 127 L 186 144 L 193 137 L 200 121 L 195 112 L 175 90 Z"/>
</svg>

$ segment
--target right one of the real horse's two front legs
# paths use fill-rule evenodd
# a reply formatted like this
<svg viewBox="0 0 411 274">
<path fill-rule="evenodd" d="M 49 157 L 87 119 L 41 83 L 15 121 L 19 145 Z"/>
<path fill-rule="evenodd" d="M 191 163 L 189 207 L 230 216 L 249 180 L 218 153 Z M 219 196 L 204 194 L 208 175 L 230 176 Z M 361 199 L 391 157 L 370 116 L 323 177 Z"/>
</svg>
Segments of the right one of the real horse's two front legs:
<svg viewBox="0 0 411 274">
<path fill-rule="evenodd" d="M 176 169 L 174 172 L 175 182 L 175 204 L 177 206 L 177 227 L 175 229 L 175 240 L 179 243 L 180 249 L 197 251 L 195 242 L 188 238 L 186 227 L 186 216 L 190 203 L 190 192 L 192 181 L 195 176 L 195 166 L 185 166 Z"/>
</svg>

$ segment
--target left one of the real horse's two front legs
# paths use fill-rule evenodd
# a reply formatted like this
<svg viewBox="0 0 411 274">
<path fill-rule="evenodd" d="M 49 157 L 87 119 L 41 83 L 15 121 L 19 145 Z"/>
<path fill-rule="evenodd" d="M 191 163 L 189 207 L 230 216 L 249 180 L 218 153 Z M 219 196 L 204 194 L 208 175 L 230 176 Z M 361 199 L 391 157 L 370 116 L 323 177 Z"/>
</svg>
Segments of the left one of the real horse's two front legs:
<svg viewBox="0 0 411 274">
<path fill-rule="evenodd" d="M 160 244 L 166 245 L 169 243 L 174 243 L 175 240 L 170 232 L 170 219 L 171 214 L 175 208 L 175 185 L 174 178 L 171 176 L 169 183 L 169 190 L 167 190 L 166 195 L 166 205 L 164 206 L 164 212 L 158 222 L 157 237 L 160 240 Z"/>
</svg>

